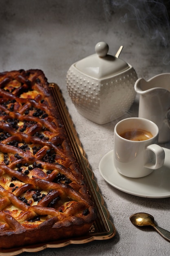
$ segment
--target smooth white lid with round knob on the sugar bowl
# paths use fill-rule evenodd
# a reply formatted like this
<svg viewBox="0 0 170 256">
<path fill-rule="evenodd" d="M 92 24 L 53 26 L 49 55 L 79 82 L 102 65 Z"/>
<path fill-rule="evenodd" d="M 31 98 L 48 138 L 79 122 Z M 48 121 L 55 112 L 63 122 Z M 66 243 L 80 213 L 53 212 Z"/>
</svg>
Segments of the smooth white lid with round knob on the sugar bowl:
<svg viewBox="0 0 170 256">
<path fill-rule="evenodd" d="M 99 42 L 95 45 L 95 54 L 92 54 L 81 61 L 75 63 L 75 67 L 84 74 L 96 79 L 103 79 L 114 76 L 124 70 L 129 65 L 116 56 L 108 54 L 108 44 Z"/>
</svg>

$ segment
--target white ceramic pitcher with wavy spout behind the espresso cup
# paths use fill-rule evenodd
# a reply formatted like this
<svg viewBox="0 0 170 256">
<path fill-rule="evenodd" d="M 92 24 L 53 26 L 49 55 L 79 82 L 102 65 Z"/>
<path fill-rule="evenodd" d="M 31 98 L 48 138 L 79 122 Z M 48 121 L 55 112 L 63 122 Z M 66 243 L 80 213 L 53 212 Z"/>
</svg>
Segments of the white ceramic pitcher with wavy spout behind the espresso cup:
<svg viewBox="0 0 170 256">
<path fill-rule="evenodd" d="M 135 82 L 139 98 L 139 117 L 153 121 L 159 128 L 159 143 L 170 141 L 170 73 L 158 74 L 148 81 Z"/>
</svg>

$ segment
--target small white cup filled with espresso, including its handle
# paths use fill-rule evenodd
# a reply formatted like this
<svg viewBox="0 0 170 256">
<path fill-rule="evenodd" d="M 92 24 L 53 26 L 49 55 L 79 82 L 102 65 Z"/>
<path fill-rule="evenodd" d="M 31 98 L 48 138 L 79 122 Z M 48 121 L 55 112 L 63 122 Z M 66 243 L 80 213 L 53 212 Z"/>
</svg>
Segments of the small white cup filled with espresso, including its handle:
<svg viewBox="0 0 170 256">
<path fill-rule="evenodd" d="M 158 145 L 158 135 L 158 126 L 148 119 L 132 117 L 119 121 L 114 130 L 117 171 L 127 177 L 139 178 L 163 166 L 165 152 Z"/>
</svg>

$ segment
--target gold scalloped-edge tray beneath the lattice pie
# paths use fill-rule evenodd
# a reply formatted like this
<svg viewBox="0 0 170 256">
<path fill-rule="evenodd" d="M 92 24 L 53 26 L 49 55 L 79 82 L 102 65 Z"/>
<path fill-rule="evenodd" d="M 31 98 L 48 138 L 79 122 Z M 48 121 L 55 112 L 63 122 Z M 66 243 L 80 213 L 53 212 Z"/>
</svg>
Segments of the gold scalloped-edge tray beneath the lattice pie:
<svg viewBox="0 0 170 256">
<path fill-rule="evenodd" d="M 55 103 L 62 117 L 66 133 L 71 142 L 73 153 L 75 154 L 79 167 L 82 170 L 82 174 L 84 176 L 84 180 L 86 181 L 86 185 L 88 186 L 91 199 L 95 203 L 95 207 L 97 209 L 97 219 L 89 230 L 89 234 L 87 236 L 58 240 L 51 243 L 36 244 L 32 246 L 29 245 L 20 248 L 0 248 L 0 256 L 13 256 L 21 254 L 22 252 L 39 252 L 46 248 L 58 248 L 70 244 L 84 244 L 89 243 L 93 240 L 106 240 L 113 238 L 113 236 L 115 236 L 116 234 L 115 226 L 109 219 L 110 214 L 104 206 L 104 199 L 99 193 L 99 187 L 94 180 L 94 174 L 89 168 L 88 160 L 86 159 L 85 152 L 81 146 L 81 142 L 78 138 L 73 121 L 69 115 L 64 98 L 62 96 L 62 92 L 60 91 L 59 86 L 55 83 L 50 83 L 50 87 L 53 91 Z"/>
</svg>

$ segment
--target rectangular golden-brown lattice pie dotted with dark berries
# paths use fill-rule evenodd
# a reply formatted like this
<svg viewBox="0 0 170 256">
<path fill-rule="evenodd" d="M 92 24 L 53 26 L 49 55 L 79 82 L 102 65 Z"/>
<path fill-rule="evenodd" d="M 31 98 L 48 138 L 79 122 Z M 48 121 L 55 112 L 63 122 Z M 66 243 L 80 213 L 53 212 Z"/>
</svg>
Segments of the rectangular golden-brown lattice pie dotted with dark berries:
<svg viewBox="0 0 170 256">
<path fill-rule="evenodd" d="M 0 247 L 82 236 L 95 218 L 44 73 L 0 73 Z"/>
</svg>

